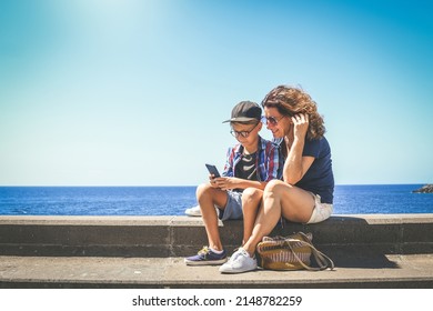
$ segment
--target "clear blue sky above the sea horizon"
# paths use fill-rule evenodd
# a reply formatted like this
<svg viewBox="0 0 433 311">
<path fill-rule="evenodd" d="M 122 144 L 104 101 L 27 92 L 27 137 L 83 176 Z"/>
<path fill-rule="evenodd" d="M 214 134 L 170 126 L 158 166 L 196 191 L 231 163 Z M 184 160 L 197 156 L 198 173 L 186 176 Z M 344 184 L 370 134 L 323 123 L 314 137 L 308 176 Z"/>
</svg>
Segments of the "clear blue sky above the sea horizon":
<svg viewBox="0 0 433 311">
<path fill-rule="evenodd" d="M 318 102 L 338 184 L 433 182 L 432 6 L 3 0 L 0 185 L 199 184 L 232 107 L 282 83 Z"/>
</svg>

